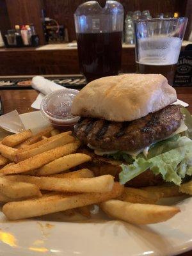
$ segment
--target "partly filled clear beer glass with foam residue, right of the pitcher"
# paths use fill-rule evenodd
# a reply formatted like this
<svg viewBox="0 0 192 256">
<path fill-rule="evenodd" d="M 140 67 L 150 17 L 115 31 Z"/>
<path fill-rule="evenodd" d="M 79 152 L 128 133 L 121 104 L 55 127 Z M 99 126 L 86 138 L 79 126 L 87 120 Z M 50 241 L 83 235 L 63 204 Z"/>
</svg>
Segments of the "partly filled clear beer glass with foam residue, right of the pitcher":
<svg viewBox="0 0 192 256">
<path fill-rule="evenodd" d="M 187 23 L 187 17 L 135 20 L 136 72 L 162 74 L 172 85 Z"/>
</svg>

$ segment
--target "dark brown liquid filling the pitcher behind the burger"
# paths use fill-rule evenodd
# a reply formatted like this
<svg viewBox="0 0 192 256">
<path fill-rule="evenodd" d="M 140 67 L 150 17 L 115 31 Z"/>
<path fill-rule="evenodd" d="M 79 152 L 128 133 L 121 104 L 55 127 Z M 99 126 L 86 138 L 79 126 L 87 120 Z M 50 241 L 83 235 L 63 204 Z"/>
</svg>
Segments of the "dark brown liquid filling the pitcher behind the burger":
<svg viewBox="0 0 192 256">
<path fill-rule="evenodd" d="M 79 68 L 88 82 L 120 71 L 122 32 L 77 33 Z"/>
</svg>

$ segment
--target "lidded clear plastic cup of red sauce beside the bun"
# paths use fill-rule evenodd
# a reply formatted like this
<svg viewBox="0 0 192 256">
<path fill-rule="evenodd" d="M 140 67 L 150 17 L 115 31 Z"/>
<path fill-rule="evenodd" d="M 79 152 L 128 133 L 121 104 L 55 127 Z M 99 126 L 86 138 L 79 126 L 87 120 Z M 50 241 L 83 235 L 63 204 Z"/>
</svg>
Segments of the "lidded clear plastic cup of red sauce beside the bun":
<svg viewBox="0 0 192 256">
<path fill-rule="evenodd" d="M 77 90 L 63 89 L 45 96 L 40 109 L 42 116 L 56 126 L 76 124 L 79 116 L 73 116 L 71 114 L 71 106 L 77 93 L 79 93 Z"/>
</svg>

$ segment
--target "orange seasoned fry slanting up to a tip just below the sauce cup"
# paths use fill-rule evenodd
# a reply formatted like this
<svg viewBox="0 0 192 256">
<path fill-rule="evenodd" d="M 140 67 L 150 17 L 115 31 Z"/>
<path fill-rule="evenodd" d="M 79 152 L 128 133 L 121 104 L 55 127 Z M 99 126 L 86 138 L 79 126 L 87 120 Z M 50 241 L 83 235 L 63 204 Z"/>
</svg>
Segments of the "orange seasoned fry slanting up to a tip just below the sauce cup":
<svg viewBox="0 0 192 256">
<path fill-rule="evenodd" d="M 60 136 L 61 134 L 58 134 L 56 136 Z M 23 161 L 24 159 L 28 159 L 29 157 L 36 156 L 37 154 L 41 154 L 45 151 L 51 150 L 52 148 L 60 147 L 63 145 L 66 145 L 67 143 L 70 143 L 72 141 L 75 141 L 75 138 L 72 136 L 60 136 L 58 138 L 55 138 L 55 140 L 42 140 L 37 143 L 45 142 L 39 147 L 35 147 L 32 149 L 27 150 L 18 150 L 18 152 L 15 155 L 15 163 L 18 163 L 20 161 Z"/>
</svg>

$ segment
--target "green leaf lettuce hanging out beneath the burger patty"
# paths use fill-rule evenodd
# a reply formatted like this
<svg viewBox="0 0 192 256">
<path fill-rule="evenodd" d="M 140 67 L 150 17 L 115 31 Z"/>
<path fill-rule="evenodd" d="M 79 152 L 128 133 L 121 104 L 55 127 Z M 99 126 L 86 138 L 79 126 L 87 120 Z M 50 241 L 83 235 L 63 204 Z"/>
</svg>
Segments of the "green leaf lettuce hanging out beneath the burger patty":
<svg viewBox="0 0 192 256">
<path fill-rule="evenodd" d="M 186 108 L 181 108 L 184 122 L 188 126 L 186 136 L 177 134 L 168 140 L 150 146 L 147 157 L 140 154 L 132 164 L 122 164 L 119 174 L 121 184 L 150 169 L 161 174 L 166 182 L 180 186 L 182 180 L 192 175 L 192 117 Z"/>
</svg>

